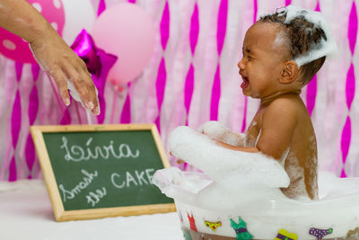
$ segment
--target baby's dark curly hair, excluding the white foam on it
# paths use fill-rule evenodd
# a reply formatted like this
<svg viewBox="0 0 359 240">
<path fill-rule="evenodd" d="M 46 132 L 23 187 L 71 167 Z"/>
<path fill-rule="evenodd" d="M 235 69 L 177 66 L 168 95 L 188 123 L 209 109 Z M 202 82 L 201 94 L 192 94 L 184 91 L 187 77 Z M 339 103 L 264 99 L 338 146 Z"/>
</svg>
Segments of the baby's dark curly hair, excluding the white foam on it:
<svg viewBox="0 0 359 240">
<path fill-rule="evenodd" d="M 304 10 L 305 11 L 305 10 Z M 325 32 L 320 26 L 308 22 L 303 15 L 296 16 L 292 21 L 286 23 L 286 12 L 276 11 L 276 13 L 260 16 L 258 22 L 269 22 L 279 24 L 286 37 L 288 52 L 285 56 L 288 60 L 297 58 L 312 49 L 312 46 L 320 44 L 321 39 L 327 40 Z M 302 65 L 299 69 L 302 84 L 308 84 L 313 76 L 323 66 L 326 57 L 315 59 Z"/>
</svg>

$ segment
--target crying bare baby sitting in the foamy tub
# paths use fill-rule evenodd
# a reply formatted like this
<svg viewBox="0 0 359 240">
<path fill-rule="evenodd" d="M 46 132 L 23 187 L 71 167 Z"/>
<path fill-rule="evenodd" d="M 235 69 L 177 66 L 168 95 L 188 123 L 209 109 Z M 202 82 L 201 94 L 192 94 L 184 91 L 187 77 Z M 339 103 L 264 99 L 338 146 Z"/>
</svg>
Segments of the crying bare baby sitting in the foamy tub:
<svg viewBox="0 0 359 240">
<path fill-rule="evenodd" d="M 281 190 L 297 200 L 318 200 L 317 142 L 300 93 L 335 47 L 315 16 L 320 13 L 308 13 L 288 6 L 260 17 L 247 31 L 238 63 L 241 89 L 260 106 L 246 135 L 227 130 L 215 137 L 202 128 L 223 147 L 279 161 L 290 178 L 289 187 Z"/>
</svg>

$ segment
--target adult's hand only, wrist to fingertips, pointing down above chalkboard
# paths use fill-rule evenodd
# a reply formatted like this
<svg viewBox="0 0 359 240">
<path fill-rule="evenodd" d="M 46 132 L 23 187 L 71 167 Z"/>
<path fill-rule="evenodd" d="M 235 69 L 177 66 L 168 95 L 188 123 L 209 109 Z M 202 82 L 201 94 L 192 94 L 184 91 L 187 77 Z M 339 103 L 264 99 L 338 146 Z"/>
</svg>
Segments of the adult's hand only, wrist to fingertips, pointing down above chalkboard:
<svg viewBox="0 0 359 240">
<path fill-rule="evenodd" d="M 74 84 L 86 109 L 100 114 L 95 86 L 86 65 L 50 25 L 43 36 L 30 42 L 30 47 L 39 66 L 54 79 L 66 106 L 70 104 L 68 79 Z"/>
</svg>

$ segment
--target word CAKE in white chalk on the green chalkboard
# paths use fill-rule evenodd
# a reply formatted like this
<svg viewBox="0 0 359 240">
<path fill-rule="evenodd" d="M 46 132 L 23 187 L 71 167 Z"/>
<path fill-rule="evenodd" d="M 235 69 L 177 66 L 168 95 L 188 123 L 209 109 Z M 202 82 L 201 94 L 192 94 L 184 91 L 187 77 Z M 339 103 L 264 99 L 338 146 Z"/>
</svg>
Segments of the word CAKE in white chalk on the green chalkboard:
<svg viewBox="0 0 359 240">
<path fill-rule="evenodd" d="M 129 173 L 126 172 L 123 176 L 121 176 L 119 173 L 112 173 L 111 174 L 111 182 L 115 188 L 122 189 L 124 187 L 129 187 L 130 183 L 133 185 L 148 185 L 153 184 L 153 168 L 147 168 L 144 171 L 138 172 L 137 170 L 135 173 Z M 146 178 L 144 177 L 144 174 Z"/>
</svg>

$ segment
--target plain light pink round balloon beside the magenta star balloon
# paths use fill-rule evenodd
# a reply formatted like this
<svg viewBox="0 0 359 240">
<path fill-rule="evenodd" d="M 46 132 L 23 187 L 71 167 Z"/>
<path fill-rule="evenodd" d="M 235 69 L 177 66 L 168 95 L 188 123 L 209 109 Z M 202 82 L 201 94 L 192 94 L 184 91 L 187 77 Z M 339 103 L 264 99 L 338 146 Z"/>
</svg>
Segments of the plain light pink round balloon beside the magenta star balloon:
<svg viewBox="0 0 359 240">
<path fill-rule="evenodd" d="M 153 54 L 153 21 L 136 4 L 106 9 L 93 24 L 92 37 L 99 48 L 118 57 L 108 77 L 115 84 L 136 78 Z"/>
</svg>

